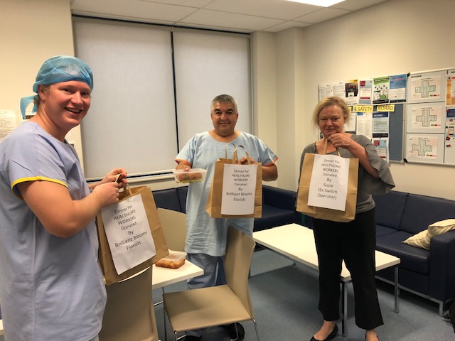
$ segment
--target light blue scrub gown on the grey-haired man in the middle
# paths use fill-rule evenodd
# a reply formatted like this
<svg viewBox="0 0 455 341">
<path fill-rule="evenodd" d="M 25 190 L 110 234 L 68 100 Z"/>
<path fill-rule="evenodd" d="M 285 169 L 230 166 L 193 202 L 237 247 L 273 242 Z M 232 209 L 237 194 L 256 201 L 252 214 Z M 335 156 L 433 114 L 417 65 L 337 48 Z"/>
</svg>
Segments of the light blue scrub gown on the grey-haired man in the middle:
<svg viewBox="0 0 455 341">
<path fill-rule="evenodd" d="M 234 141 L 226 144 L 213 139 L 208 131 L 193 136 L 176 156 L 176 161 L 186 161 L 192 168 L 207 170 L 205 180 L 190 183 L 186 199 L 187 236 L 185 251 L 191 254 L 223 256 L 226 250 L 228 226 L 232 225 L 252 235 L 254 218 L 211 218 L 205 211 L 208 193 L 212 185 L 215 162 L 218 158 L 232 158 L 234 146 L 243 146 L 250 158 L 270 166 L 277 156 L 264 142 L 252 134 L 241 132 Z M 245 156 L 242 148 L 237 149 L 238 158 Z"/>
</svg>

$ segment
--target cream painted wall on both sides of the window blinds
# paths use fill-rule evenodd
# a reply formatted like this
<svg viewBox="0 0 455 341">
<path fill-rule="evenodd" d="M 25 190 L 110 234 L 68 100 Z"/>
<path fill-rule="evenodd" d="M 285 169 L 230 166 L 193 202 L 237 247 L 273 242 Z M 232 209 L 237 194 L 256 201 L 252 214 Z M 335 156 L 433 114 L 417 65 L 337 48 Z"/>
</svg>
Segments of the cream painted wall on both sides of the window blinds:
<svg viewBox="0 0 455 341">
<path fill-rule="evenodd" d="M 309 121 L 319 84 L 455 67 L 454 6 L 453 0 L 389 0 L 308 28 L 255 33 L 255 134 L 279 156 L 274 183 L 297 188 L 301 151 L 316 139 Z M 45 59 L 74 55 L 70 0 L 0 0 L 0 9 L 0 108 L 18 110 L 21 97 L 33 94 Z M 396 190 L 455 200 L 454 167 L 392 163 L 391 168 Z M 144 184 L 176 185 L 173 180 Z"/>
</svg>

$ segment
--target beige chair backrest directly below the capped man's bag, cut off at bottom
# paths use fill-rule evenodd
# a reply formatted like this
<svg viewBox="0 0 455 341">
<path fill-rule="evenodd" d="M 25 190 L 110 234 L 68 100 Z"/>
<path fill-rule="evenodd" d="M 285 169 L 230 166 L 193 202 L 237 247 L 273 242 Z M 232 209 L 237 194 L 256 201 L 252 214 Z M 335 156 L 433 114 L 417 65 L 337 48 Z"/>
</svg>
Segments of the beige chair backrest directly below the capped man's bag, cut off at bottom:
<svg viewBox="0 0 455 341">
<path fill-rule="evenodd" d="M 159 341 L 151 298 L 151 269 L 106 287 L 100 341 Z"/>
</svg>

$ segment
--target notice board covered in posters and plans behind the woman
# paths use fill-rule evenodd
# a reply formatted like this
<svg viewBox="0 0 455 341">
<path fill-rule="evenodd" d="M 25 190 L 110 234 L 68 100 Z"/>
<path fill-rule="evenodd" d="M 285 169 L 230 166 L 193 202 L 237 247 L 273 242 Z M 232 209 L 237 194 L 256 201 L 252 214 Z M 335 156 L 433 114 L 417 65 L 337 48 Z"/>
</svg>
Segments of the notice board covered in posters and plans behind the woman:
<svg viewBox="0 0 455 341">
<path fill-rule="evenodd" d="M 455 67 L 319 85 L 351 109 L 345 131 L 391 162 L 455 166 Z"/>
</svg>

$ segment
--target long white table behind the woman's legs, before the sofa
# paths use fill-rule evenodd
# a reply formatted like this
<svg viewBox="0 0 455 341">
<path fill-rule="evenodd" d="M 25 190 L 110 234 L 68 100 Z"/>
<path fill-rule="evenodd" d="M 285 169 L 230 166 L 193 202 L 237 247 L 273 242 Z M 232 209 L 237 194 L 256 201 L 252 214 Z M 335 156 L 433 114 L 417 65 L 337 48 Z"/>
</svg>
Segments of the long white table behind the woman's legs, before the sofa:
<svg viewBox="0 0 455 341">
<path fill-rule="evenodd" d="M 316 245 L 314 243 L 313 230 L 308 227 L 301 226 L 299 224 L 288 224 L 279 227 L 273 227 L 272 229 L 264 229 L 253 233 L 253 239 L 257 244 L 261 244 L 268 249 L 276 251 L 279 254 L 289 257 L 294 261 L 298 261 L 301 264 L 309 266 L 311 269 L 319 271 L 318 255 L 316 253 Z M 395 266 L 395 313 L 399 312 L 398 302 L 398 264 L 400 259 L 392 256 L 391 254 L 385 254 L 380 251 L 376 251 L 376 271 Z M 347 318 L 348 318 L 348 291 L 347 284 L 352 281 L 348 269 L 343 262 L 343 268 L 341 270 L 342 284 L 342 295 L 341 295 L 341 307 L 342 307 L 342 319 L 341 319 L 341 330 L 343 336 L 347 335 Z"/>
</svg>

